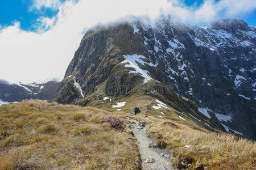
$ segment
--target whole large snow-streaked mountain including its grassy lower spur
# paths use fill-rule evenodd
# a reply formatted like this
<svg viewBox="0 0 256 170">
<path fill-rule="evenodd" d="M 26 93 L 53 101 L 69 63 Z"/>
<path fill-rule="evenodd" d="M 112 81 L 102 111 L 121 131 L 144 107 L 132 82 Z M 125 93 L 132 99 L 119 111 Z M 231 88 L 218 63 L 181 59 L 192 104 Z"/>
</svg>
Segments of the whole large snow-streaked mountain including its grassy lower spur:
<svg viewBox="0 0 256 170">
<path fill-rule="evenodd" d="M 256 139 L 255 45 L 255 27 L 240 19 L 100 25 L 85 33 L 54 100 L 98 108 L 125 100 L 155 115 L 163 102 L 170 115 Z"/>
</svg>

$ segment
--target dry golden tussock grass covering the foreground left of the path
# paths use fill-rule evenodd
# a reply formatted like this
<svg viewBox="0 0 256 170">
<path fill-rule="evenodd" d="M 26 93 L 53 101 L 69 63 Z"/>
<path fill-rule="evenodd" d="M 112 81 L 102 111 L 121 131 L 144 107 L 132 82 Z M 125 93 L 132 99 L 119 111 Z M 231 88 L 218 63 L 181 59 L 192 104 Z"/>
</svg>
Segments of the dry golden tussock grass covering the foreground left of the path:
<svg viewBox="0 0 256 170">
<path fill-rule="evenodd" d="M 115 130 L 96 108 L 40 100 L 0 107 L 0 169 L 139 169 L 129 130 Z"/>
</svg>

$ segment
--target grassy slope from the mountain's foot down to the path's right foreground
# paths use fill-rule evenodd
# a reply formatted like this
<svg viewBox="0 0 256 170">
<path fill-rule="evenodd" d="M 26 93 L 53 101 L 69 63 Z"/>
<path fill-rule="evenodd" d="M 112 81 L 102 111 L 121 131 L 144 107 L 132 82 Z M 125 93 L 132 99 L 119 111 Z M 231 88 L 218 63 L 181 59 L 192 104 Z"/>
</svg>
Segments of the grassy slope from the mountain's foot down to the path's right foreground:
<svg viewBox="0 0 256 170">
<path fill-rule="evenodd" d="M 121 111 L 118 113 L 132 113 L 134 106 L 137 105 L 142 111 L 142 114 L 137 116 L 138 121 L 150 124 L 148 135 L 167 146 L 167 149 L 172 152 L 171 162 L 176 168 L 253 169 L 255 167 L 255 142 L 239 139 L 233 134 L 221 133 L 216 126 L 208 122 L 207 118 L 191 111 L 190 113 L 201 119 L 198 121 L 189 116 L 187 114 L 189 112 L 184 113 L 180 109 L 175 109 L 175 104 L 158 92 L 151 93 L 151 89 L 148 90 L 148 87 L 151 88 L 151 86 L 141 87 L 140 93 L 134 89 L 125 96 L 108 96 L 112 101 L 103 102 L 99 99 L 104 96 L 104 92 L 101 91 L 104 88 L 99 86 L 97 93 L 101 94 L 100 97 L 93 93 L 94 100 L 90 100 L 89 105 L 109 112 L 117 112 L 117 108 L 112 108 L 112 105 L 116 105 L 116 102 L 126 101 L 126 105 L 121 107 Z M 153 105 L 158 104 L 155 99 L 164 101 L 170 109 L 152 108 Z M 179 116 L 183 117 L 185 121 L 181 120 Z M 164 125 L 166 121 L 173 122 L 178 128 Z M 204 122 L 213 128 L 209 128 Z M 184 148 L 185 145 L 189 145 L 191 148 Z"/>
</svg>

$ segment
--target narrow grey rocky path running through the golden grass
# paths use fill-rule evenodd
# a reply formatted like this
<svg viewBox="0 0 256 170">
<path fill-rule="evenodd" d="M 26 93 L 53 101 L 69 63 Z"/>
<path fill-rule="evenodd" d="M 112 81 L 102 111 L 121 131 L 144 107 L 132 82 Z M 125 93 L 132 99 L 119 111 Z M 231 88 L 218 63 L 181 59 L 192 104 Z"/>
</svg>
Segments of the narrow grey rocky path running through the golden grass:
<svg viewBox="0 0 256 170">
<path fill-rule="evenodd" d="M 135 124 L 131 124 L 134 136 L 138 141 L 139 151 L 142 159 L 143 170 L 167 170 L 171 169 L 170 155 L 160 148 L 154 148 L 154 141 L 147 137 L 148 126 L 139 124 L 137 120 L 131 119 Z"/>
</svg>

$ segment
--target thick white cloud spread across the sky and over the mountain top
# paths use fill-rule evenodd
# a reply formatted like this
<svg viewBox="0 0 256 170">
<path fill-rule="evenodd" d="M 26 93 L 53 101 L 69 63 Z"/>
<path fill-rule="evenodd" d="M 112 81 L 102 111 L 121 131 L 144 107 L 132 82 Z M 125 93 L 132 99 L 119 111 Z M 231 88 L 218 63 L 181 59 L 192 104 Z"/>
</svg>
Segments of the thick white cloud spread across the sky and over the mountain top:
<svg viewBox="0 0 256 170">
<path fill-rule="evenodd" d="M 251 12 L 256 2 L 207 0 L 200 7 L 188 7 L 177 0 L 81 0 L 63 4 L 59 0 L 35 0 L 31 8 L 40 10 L 42 7 L 59 12 L 54 18 L 39 18 L 38 33 L 22 31 L 19 23 L 1 29 L 0 78 L 22 82 L 62 79 L 79 46 L 82 32 L 97 23 L 127 15 L 147 15 L 154 20 L 161 14 L 170 14 L 172 19 L 185 23 L 205 23 Z"/>
</svg>

